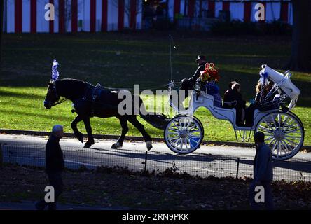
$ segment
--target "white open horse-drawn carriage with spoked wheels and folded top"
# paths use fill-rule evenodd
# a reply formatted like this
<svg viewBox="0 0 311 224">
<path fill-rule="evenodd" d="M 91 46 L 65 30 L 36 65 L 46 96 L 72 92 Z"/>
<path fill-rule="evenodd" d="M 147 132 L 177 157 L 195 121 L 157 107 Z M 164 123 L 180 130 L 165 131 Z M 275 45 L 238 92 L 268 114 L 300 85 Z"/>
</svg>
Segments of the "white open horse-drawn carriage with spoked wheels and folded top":
<svg viewBox="0 0 311 224">
<path fill-rule="evenodd" d="M 240 127 L 236 125 L 235 109 L 225 109 L 214 106 L 214 97 L 204 91 L 193 90 L 189 102 L 189 108 L 181 113 L 177 106 L 172 105 L 178 113 L 165 127 L 164 139 L 167 146 L 179 154 L 192 153 L 200 148 L 204 137 L 204 129 L 198 118 L 193 113 L 200 107 L 207 108 L 212 115 L 221 120 L 228 120 L 235 130 L 235 137 L 238 135 L 242 141 L 249 141 L 251 133 L 261 131 L 265 134 L 265 143 L 272 151 L 272 158 L 275 160 L 286 160 L 298 153 L 303 146 L 304 129 L 300 119 L 291 112 L 296 106 L 300 90 L 290 80 L 291 73 L 284 74 L 261 66 L 261 74 L 265 74 L 268 80 L 275 83 L 272 90 L 265 97 L 263 104 L 272 104 L 268 101 L 271 95 L 277 93 L 277 107 L 268 111 L 254 111 L 254 125 L 251 127 Z M 174 83 L 170 83 L 169 91 Z M 291 99 L 289 106 L 284 106 L 285 99 Z M 275 103 L 275 102 L 274 102 Z"/>
</svg>

